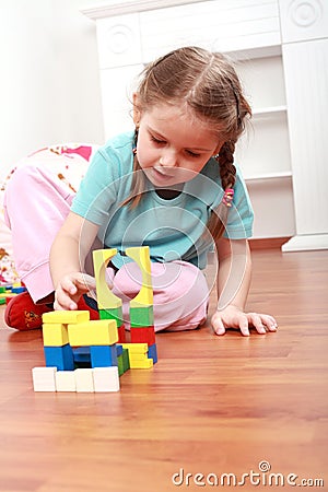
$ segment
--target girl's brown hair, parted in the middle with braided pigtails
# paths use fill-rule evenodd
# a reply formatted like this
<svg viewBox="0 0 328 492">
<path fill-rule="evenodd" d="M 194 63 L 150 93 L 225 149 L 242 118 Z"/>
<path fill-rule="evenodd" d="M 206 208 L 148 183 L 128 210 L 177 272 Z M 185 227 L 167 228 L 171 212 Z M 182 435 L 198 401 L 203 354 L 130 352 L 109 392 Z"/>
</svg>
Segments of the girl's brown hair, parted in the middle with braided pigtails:
<svg viewBox="0 0 328 492">
<path fill-rule="evenodd" d="M 147 110 L 159 103 L 185 102 L 195 116 L 218 131 L 223 141 L 215 156 L 224 190 L 233 188 L 235 143 L 245 129 L 245 117 L 251 115 L 238 77 L 232 63 L 221 54 L 197 47 L 184 47 L 168 52 L 145 67 L 137 90 L 138 104 Z M 136 143 L 138 129 L 136 129 Z M 133 171 L 141 169 L 137 154 Z M 143 173 L 134 173 L 130 197 L 122 204 L 138 206 L 144 190 Z M 212 211 L 208 230 L 215 239 L 221 237 L 227 208 L 221 203 Z"/>
</svg>

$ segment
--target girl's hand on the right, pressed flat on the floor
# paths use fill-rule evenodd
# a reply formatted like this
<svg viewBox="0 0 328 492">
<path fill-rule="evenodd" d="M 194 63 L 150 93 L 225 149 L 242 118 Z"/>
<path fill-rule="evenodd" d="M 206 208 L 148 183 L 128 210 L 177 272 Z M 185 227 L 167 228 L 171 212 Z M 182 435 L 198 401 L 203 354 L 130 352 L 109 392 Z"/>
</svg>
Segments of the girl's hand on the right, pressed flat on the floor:
<svg viewBox="0 0 328 492">
<path fill-rule="evenodd" d="M 277 331 L 278 328 L 277 321 L 272 316 L 244 313 L 234 305 L 216 311 L 212 316 L 211 323 L 216 335 L 224 335 L 225 328 L 239 328 L 245 337 L 249 337 L 249 326 L 256 328 L 260 335 L 267 331 Z"/>
</svg>

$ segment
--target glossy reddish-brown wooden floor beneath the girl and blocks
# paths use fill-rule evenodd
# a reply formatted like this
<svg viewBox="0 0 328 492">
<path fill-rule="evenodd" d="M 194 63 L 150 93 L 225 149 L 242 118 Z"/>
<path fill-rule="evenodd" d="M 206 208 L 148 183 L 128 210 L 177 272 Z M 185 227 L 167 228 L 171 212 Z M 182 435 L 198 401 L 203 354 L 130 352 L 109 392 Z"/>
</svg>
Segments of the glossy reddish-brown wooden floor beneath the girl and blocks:
<svg viewBox="0 0 328 492">
<path fill-rule="evenodd" d="M 92 395 L 35 394 L 42 333 L 5 328 L 1 307 L 0 491 L 285 491 L 290 473 L 328 491 L 327 301 L 328 251 L 256 250 L 248 307 L 277 333 L 159 335 L 153 370 Z"/>
</svg>

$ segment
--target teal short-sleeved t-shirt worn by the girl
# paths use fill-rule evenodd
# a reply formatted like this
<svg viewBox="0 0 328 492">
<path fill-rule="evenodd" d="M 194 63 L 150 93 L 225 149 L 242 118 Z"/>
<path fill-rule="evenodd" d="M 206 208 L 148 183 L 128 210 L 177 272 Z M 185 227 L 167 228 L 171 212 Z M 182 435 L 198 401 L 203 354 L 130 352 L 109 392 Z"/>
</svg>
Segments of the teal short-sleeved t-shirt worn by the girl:
<svg viewBox="0 0 328 492">
<path fill-rule="evenodd" d="M 124 251 L 149 246 L 152 261 L 190 261 L 203 269 L 211 247 L 203 232 L 211 211 L 223 197 L 218 162 L 210 159 L 202 171 L 184 184 L 174 199 L 161 198 L 145 179 L 145 191 L 136 208 L 121 203 L 130 196 L 133 167 L 133 132 L 109 140 L 95 154 L 73 200 L 71 210 L 99 225 L 104 247 Z M 138 173 L 143 173 L 139 171 Z M 229 209 L 225 236 L 251 236 L 253 210 L 245 183 L 237 169 L 233 207 Z M 120 266 L 126 257 L 116 255 Z"/>
</svg>

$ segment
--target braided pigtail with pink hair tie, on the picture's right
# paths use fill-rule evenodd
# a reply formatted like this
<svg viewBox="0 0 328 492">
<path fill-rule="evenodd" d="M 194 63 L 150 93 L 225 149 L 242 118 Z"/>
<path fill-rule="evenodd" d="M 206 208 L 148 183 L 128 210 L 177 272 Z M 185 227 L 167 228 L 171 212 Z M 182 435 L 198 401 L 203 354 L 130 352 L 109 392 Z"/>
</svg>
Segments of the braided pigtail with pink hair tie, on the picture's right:
<svg viewBox="0 0 328 492">
<path fill-rule="evenodd" d="M 220 165 L 220 177 L 222 188 L 224 190 L 223 200 L 221 201 L 219 207 L 216 207 L 216 209 L 212 211 L 207 225 L 208 232 L 211 234 L 214 242 L 218 241 L 224 233 L 225 224 L 227 221 L 229 207 L 231 207 L 231 201 L 233 199 L 233 187 L 236 180 L 234 152 L 235 142 L 229 140 L 222 145 L 219 154 L 214 157 Z"/>
</svg>

